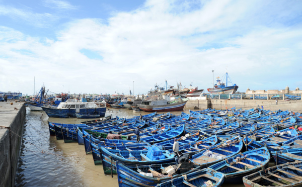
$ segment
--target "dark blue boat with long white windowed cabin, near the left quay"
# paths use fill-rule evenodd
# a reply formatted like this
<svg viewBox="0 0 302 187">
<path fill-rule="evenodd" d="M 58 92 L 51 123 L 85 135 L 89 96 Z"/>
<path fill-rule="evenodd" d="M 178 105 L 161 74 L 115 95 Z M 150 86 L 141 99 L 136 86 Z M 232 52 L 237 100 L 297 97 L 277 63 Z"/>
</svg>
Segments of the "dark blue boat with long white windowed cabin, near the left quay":
<svg viewBox="0 0 302 187">
<path fill-rule="evenodd" d="M 78 102 L 74 99 L 68 99 L 66 102 L 61 102 L 57 107 L 42 107 L 48 117 L 52 118 L 75 118 L 75 114 L 100 115 L 104 117 L 106 107 L 99 107 L 94 102 Z"/>
</svg>

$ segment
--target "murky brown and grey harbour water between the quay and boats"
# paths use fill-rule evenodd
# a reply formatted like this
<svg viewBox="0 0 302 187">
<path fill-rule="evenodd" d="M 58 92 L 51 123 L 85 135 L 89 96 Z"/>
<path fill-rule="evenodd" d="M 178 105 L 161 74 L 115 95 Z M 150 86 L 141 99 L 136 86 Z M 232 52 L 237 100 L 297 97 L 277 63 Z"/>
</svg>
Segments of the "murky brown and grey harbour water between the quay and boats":
<svg viewBox="0 0 302 187">
<path fill-rule="evenodd" d="M 183 112 L 189 113 L 188 110 Z M 179 115 L 181 112 L 171 112 Z M 27 108 L 26 124 L 19 158 L 16 186 L 118 186 L 116 175 L 104 175 L 102 165 L 94 165 L 84 145 L 64 143 L 49 136 L 47 121 L 79 124 L 83 119 L 48 118 L 44 112 Z M 132 118 L 139 114 L 128 109 L 107 108 L 105 116 Z M 223 184 L 241 187 L 244 184 Z"/>
</svg>

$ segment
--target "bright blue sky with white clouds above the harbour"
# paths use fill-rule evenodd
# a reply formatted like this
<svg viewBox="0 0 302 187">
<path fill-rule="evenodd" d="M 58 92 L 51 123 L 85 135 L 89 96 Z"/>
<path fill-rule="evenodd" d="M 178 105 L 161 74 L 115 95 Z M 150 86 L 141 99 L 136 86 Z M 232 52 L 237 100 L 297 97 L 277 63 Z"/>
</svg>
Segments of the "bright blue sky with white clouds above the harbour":
<svg viewBox="0 0 302 187">
<path fill-rule="evenodd" d="M 0 91 L 302 89 L 302 1 L 0 0 Z M 214 72 L 212 72 L 214 70 Z"/>
</svg>

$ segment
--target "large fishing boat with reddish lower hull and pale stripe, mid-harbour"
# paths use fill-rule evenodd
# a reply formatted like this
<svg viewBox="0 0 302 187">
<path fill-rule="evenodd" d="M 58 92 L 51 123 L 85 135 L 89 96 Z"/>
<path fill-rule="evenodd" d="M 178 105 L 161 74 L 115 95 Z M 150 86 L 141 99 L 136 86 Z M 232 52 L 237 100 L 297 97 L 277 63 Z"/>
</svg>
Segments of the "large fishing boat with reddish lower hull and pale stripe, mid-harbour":
<svg viewBox="0 0 302 187">
<path fill-rule="evenodd" d="M 147 100 L 142 101 L 140 105 L 137 105 L 140 110 L 145 112 L 170 112 L 170 111 L 182 111 L 188 102 L 188 99 L 180 100 Z"/>
</svg>

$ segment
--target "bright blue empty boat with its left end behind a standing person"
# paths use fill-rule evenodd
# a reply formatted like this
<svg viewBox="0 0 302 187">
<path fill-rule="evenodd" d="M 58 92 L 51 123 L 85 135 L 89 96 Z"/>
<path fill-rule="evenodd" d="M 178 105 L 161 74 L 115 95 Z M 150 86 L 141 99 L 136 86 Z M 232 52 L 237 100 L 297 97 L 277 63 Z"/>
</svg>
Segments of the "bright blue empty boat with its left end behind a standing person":
<svg viewBox="0 0 302 187">
<path fill-rule="evenodd" d="M 142 137 L 142 138 L 140 138 L 140 141 L 150 143 L 150 144 L 164 142 L 167 140 L 181 137 L 184 133 L 184 130 L 185 130 L 185 126 L 181 125 L 181 126 L 177 127 L 176 129 L 167 131 L 162 134 L 157 134 L 157 135 L 150 136 L 150 137 Z M 131 140 L 136 140 L 136 136 L 132 136 Z"/>
</svg>

